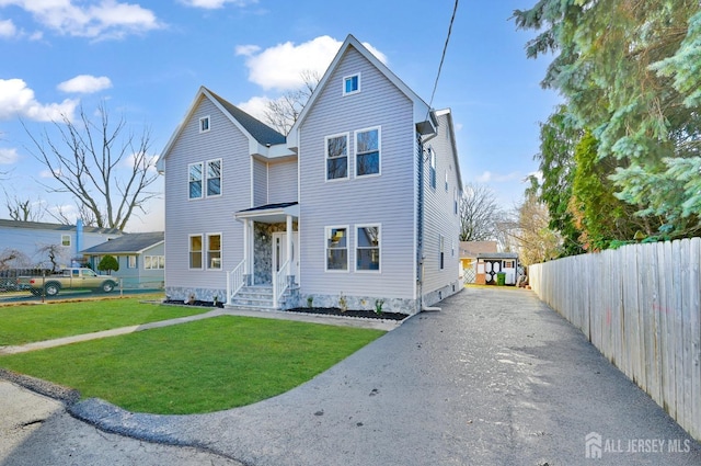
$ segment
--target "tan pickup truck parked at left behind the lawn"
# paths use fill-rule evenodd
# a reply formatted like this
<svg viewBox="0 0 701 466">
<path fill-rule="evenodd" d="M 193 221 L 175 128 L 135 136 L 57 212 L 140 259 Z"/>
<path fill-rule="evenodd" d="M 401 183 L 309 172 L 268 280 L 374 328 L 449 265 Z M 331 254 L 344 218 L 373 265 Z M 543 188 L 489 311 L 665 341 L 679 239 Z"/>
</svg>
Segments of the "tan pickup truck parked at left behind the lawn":
<svg viewBox="0 0 701 466">
<path fill-rule="evenodd" d="M 110 293 L 117 282 L 111 275 L 97 275 L 91 269 L 71 268 L 46 276 L 20 276 L 18 285 L 35 295 L 56 296 L 61 289 L 96 289 Z"/>
</svg>

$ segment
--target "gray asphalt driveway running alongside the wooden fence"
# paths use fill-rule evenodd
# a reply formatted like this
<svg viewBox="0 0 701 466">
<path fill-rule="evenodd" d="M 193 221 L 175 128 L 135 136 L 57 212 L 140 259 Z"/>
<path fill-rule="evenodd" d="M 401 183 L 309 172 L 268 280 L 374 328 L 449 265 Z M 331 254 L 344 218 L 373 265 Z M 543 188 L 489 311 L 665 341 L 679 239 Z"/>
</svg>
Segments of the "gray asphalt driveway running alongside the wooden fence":
<svg viewBox="0 0 701 466">
<path fill-rule="evenodd" d="M 286 394 L 210 414 L 0 383 L 0 465 L 701 465 L 701 445 L 532 292 L 471 287 L 440 307 Z M 11 411 L 15 391 L 48 408 Z"/>
</svg>

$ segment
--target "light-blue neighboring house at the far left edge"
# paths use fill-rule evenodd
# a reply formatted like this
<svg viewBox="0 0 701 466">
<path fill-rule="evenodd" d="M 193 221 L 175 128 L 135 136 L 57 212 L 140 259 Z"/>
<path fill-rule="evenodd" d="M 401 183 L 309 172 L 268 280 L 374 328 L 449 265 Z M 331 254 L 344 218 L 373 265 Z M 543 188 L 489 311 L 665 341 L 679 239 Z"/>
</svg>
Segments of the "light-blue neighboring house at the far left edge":
<svg viewBox="0 0 701 466">
<path fill-rule="evenodd" d="M 4 249 L 15 249 L 30 261 L 30 264 L 15 266 L 50 269 L 48 250 L 53 249 L 58 252 L 55 258 L 57 266 L 70 266 L 74 262 L 82 262 L 80 251 L 83 249 L 122 235 L 116 228 L 85 227 L 80 220 L 77 225 L 61 225 L 0 219 L 0 253 Z"/>
</svg>

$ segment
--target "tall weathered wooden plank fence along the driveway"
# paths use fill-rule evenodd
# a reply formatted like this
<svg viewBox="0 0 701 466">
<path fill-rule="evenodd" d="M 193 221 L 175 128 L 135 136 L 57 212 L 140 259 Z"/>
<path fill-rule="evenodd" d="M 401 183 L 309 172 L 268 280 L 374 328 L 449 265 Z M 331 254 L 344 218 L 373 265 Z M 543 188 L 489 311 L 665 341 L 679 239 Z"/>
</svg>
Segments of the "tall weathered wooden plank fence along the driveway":
<svg viewBox="0 0 701 466">
<path fill-rule="evenodd" d="M 538 296 L 701 441 L 701 238 L 530 265 Z"/>
</svg>

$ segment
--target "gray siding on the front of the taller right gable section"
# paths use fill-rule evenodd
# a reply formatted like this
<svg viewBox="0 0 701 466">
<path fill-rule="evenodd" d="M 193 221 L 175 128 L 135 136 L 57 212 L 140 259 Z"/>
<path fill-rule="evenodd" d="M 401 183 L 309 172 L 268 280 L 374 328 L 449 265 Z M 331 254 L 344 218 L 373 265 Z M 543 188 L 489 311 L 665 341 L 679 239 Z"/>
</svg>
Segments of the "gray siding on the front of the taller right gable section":
<svg viewBox="0 0 701 466">
<path fill-rule="evenodd" d="M 342 95 L 343 77 L 361 73 L 361 92 Z M 379 177 L 354 175 L 354 132 L 381 127 Z M 349 133 L 348 180 L 325 181 L 324 137 Z M 300 127 L 301 293 L 414 298 L 413 103 L 353 47 L 330 76 Z M 356 231 L 381 225 L 381 273 L 355 271 Z M 325 272 L 324 227 L 348 226 L 348 272 Z"/>
</svg>

